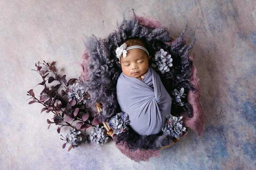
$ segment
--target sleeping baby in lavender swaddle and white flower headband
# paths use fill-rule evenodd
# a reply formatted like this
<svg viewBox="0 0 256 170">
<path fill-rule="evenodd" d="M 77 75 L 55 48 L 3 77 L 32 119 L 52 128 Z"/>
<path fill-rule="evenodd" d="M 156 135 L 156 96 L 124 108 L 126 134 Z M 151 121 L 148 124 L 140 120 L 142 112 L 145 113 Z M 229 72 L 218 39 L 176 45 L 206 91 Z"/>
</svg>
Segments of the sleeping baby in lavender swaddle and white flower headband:
<svg viewBox="0 0 256 170">
<path fill-rule="evenodd" d="M 116 49 L 122 67 L 116 85 L 121 111 L 129 115 L 131 128 L 139 135 L 162 131 L 172 99 L 160 76 L 149 66 L 148 50 L 141 39 L 128 39 Z"/>
</svg>

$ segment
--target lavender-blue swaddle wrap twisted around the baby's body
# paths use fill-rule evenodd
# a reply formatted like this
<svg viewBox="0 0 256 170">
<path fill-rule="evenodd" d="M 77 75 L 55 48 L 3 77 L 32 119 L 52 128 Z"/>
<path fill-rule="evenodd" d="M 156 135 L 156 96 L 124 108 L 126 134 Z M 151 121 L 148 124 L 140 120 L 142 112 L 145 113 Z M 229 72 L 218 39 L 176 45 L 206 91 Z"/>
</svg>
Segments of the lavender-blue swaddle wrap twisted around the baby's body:
<svg viewBox="0 0 256 170">
<path fill-rule="evenodd" d="M 120 74 L 116 85 L 121 111 L 129 115 L 131 128 L 139 135 L 161 132 L 165 116 L 171 112 L 172 99 L 153 67 L 140 81 Z"/>
</svg>

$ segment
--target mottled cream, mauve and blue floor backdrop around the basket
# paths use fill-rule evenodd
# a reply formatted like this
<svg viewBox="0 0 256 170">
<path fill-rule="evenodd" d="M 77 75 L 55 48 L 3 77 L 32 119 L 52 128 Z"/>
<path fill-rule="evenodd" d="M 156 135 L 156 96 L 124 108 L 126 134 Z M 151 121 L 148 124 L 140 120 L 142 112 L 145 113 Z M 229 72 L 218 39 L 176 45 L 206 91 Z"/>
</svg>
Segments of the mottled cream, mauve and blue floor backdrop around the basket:
<svg viewBox="0 0 256 170">
<path fill-rule="evenodd" d="M 28 105 L 41 81 L 31 69 L 57 61 L 68 78 L 80 76 L 84 35 L 105 37 L 116 23 L 145 13 L 174 37 L 188 22 L 188 43 L 202 88 L 205 130 L 190 131 L 172 148 L 136 163 L 116 149 L 84 144 L 62 149 L 47 113 Z M 255 1 L 0 1 L 0 169 L 255 169 Z M 35 87 L 36 86 L 36 87 Z M 61 129 L 61 134 L 67 131 Z"/>
</svg>

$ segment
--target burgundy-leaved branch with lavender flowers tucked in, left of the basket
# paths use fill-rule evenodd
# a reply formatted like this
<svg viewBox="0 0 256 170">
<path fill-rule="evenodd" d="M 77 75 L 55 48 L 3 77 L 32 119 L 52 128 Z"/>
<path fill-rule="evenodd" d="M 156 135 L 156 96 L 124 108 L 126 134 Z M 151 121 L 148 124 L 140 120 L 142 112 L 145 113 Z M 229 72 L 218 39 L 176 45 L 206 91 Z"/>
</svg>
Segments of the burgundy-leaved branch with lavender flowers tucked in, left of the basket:
<svg viewBox="0 0 256 170">
<path fill-rule="evenodd" d="M 70 141 L 70 137 L 67 135 L 65 141 L 67 141 L 67 143 L 71 143 L 71 146 L 74 148 L 81 141 L 79 136 L 84 137 L 85 141 L 89 140 L 88 137 L 84 135 L 87 128 L 91 126 L 95 127 L 100 124 L 99 120 L 94 118 L 91 111 L 92 109 L 86 107 L 86 100 L 90 99 L 90 94 L 81 89 L 79 83 L 82 83 L 83 81 L 80 77 L 78 82 L 76 82 L 77 79 L 75 78 L 67 81 L 66 75 L 61 77 L 58 74 L 60 67 L 57 69 L 56 66 L 54 66 L 54 61 L 50 65 L 44 61 L 43 65 L 46 66 L 46 70 L 43 70 L 40 64 L 42 63 L 36 63 L 36 70 L 32 70 L 39 73 L 42 77 L 43 81 L 37 85 L 44 86 L 44 89 L 40 93 L 39 99 L 35 97 L 33 89 L 30 89 L 27 95 L 31 96 L 29 99 L 33 98 L 33 100 L 28 104 L 40 103 L 44 106 L 41 113 L 46 111 L 46 113 L 52 112 L 54 114 L 52 118 L 53 121 L 47 119 L 47 123 L 49 124 L 48 129 L 51 124 L 60 125 L 57 128 L 58 133 L 60 133 L 60 129 L 63 126 L 73 128 L 73 130 L 71 129 L 72 132 L 70 131 L 68 134 L 76 134 L 77 138 L 72 138 L 72 141 Z M 46 84 L 51 84 L 52 82 L 57 82 L 57 85 L 49 87 Z M 73 85 L 70 85 L 71 83 L 73 83 Z M 76 121 L 75 126 L 73 126 L 72 123 L 69 123 L 70 121 L 72 121 L 72 123 Z M 84 134 L 82 134 L 78 129 L 84 130 Z M 74 140 L 76 142 L 74 142 Z M 65 146 L 66 144 L 63 144 L 62 147 L 65 148 Z M 68 151 L 72 148 L 71 146 Z"/>
</svg>

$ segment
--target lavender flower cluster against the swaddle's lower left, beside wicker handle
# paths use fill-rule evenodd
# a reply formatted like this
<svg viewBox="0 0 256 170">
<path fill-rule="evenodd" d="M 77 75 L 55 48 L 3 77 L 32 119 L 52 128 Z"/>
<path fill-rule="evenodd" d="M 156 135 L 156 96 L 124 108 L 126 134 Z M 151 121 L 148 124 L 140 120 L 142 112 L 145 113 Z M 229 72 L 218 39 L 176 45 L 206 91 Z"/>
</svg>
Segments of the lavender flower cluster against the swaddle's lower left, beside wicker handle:
<svg viewBox="0 0 256 170">
<path fill-rule="evenodd" d="M 116 135 L 129 130 L 127 125 L 132 125 L 130 120 L 128 120 L 128 114 L 124 112 L 116 113 L 116 116 L 113 116 L 110 120 L 108 119 L 107 123 Z"/>
</svg>

